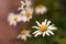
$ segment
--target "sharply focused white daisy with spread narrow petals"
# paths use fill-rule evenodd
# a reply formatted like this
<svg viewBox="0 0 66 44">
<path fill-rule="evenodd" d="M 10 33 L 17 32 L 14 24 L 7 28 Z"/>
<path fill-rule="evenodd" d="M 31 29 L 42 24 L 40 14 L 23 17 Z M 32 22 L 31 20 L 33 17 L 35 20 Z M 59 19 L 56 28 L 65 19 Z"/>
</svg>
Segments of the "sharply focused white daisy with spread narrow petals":
<svg viewBox="0 0 66 44">
<path fill-rule="evenodd" d="M 54 35 L 54 33 L 52 32 L 53 30 L 56 30 L 56 28 L 54 26 L 54 24 L 51 25 L 51 21 L 47 21 L 45 19 L 44 22 L 42 22 L 42 24 L 38 23 L 38 21 L 36 21 L 38 26 L 32 26 L 34 29 L 38 29 L 37 31 L 35 31 L 33 34 L 34 36 L 38 36 L 38 35 L 47 35 L 50 36 L 50 34 Z"/>
</svg>

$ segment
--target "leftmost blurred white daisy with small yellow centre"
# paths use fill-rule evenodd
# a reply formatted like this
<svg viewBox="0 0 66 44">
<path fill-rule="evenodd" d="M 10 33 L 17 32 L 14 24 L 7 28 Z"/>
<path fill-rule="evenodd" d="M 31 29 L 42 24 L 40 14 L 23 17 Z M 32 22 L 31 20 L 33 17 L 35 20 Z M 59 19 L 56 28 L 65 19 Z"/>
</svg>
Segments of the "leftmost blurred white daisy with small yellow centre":
<svg viewBox="0 0 66 44">
<path fill-rule="evenodd" d="M 21 16 L 14 13 L 10 13 L 8 15 L 8 22 L 10 23 L 10 25 L 16 25 L 16 22 L 21 21 Z"/>
</svg>

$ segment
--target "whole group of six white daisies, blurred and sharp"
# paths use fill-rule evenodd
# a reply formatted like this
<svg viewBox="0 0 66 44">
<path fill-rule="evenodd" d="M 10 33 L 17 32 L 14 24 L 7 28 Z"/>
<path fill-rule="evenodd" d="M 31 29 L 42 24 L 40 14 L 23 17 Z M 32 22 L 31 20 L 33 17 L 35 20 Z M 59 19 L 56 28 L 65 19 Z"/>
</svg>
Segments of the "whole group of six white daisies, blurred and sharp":
<svg viewBox="0 0 66 44">
<path fill-rule="evenodd" d="M 47 9 L 43 4 L 37 4 L 34 9 L 32 8 L 32 1 L 31 0 L 21 0 L 21 7 L 18 9 L 20 11 L 19 14 L 10 13 L 8 15 L 8 22 L 10 25 L 15 26 L 18 22 L 30 22 L 30 20 L 33 18 L 33 12 L 35 11 L 36 14 L 44 14 L 46 13 Z M 38 23 L 38 21 L 35 21 L 38 26 L 32 26 L 34 29 L 37 29 L 37 31 L 33 32 L 34 37 L 38 35 L 47 35 L 50 34 L 54 35 L 52 32 L 53 30 L 56 30 L 54 24 L 51 25 L 51 21 L 45 19 L 45 21 L 42 22 L 42 24 Z M 26 41 L 26 37 L 31 37 L 30 31 L 22 30 L 20 34 L 18 35 L 18 38 Z"/>
</svg>

